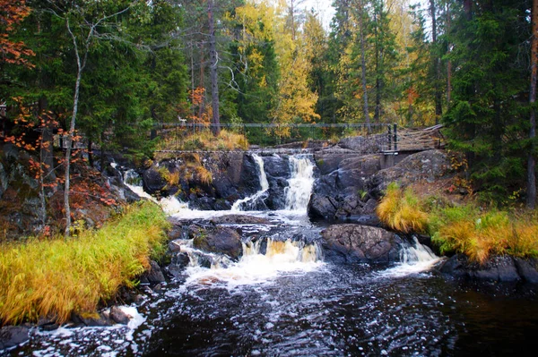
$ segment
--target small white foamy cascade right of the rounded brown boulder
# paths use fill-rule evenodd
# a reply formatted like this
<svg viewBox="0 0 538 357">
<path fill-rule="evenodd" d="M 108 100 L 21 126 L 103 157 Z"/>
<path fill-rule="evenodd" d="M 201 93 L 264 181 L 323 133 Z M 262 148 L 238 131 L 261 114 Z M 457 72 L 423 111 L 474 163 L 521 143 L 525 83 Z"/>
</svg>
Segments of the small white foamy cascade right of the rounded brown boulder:
<svg viewBox="0 0 538 357">
<path fill-rule="evenodd" d="M 378 272 L 378 276 L 401 277 L 429 271 L 441 260 L 429 247 L 422 245 L 416 237 L 412 239 L 414 245 L 400 251 L 400 264 L 395 268 Z"/>
</svg>

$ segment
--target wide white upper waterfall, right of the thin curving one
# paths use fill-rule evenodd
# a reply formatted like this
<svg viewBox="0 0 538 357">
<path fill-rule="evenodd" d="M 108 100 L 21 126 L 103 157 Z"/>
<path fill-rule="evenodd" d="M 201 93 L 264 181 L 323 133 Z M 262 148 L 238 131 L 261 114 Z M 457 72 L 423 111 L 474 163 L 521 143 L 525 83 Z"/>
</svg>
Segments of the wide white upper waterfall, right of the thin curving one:
<svg viewBox="0 0 538 357">
<path fill-rule="evenodd" d="M 291 178 L 286 188 L 286 209 L 307 211 L 314 185 L 314 164 L 308 157 L 290 157 Z"/>
</svg>

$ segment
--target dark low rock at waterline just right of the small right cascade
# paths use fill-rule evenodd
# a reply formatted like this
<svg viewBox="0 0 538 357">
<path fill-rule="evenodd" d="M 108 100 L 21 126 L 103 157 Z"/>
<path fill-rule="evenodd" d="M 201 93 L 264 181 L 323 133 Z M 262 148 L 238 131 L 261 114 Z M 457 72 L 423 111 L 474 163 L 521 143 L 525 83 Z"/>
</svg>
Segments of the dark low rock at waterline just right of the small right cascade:
<svg viewBox="0 0 538 357">
<path fill-rule="evenodd" d="M 466 277 L 473 280 L 497 282 L 521 280 L 515 260 L 508 256 L 495 256 L 481 265 L 469 261 L 463 254 L 456 254 L 443 262 L 438 270 L 449 276 Z"/>
</svg>

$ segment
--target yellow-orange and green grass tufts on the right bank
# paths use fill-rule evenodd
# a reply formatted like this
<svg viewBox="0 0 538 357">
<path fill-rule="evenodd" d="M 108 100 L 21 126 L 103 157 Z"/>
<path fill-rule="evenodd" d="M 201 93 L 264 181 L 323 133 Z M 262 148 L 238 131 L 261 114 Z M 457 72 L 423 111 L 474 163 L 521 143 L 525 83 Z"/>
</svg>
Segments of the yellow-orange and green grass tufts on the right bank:
<svg viewBox="0 0 538 357">
<path fill-rule="evenodd" d="M 429 233 L 441 253 L 464 253 L 484 263 L 491 255 L 538 258 L 538 216 L 481 208 L 474 202 L 432 205 L 410 188 L 392 183 L 377 207 L 388 227 L 404 233 Z"/>
</svg>

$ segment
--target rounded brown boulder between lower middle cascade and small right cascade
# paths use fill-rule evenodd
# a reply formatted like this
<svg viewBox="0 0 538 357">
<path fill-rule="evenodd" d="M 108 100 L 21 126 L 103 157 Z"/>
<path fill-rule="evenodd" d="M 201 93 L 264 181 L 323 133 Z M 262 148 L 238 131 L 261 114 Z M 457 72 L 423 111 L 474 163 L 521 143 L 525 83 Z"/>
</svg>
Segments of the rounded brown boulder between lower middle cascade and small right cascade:
<svg viewBox="0 0 538 357">
<path fill-rule="evenodd" d="M 402 240 L 383 228 L 331 225 L 322 232 L 325 259 L 336 263 L 391 263 Z"/>
</svg>

